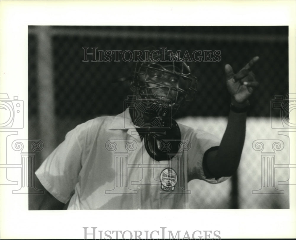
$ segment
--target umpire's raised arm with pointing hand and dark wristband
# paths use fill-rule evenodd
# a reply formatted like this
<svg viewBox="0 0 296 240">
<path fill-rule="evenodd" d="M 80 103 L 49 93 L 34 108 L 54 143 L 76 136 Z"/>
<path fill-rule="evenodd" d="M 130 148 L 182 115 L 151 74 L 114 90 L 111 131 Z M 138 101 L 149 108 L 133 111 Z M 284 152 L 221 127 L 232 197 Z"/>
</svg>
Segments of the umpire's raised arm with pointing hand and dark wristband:
<svg viewBox="0 0 296 240">
<path fill-rule="evenodd" d="M 229 64 L 225 65 L 226 85 L 231 94 L 231 107 L 227 127 L 218 149 L 207 152 L 204 170 L 208 177 L 231 176 L 239 166 L 246 131 L 248 98 L 258 82 L 252 73 L 252 66 L 259 60 L 254 57 L 237 74 Z"/>
</svg>

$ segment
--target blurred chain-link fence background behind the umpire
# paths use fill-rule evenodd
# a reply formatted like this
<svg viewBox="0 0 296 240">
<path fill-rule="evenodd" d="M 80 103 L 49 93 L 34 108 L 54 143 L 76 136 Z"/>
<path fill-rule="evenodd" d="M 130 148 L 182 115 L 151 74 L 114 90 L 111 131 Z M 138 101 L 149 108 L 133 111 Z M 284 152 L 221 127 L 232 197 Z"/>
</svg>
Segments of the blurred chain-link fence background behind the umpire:
<svg viewBox="0 0 296 240">
<path fill-rule="evenodd" d="M 132 94 L 127 82 L 114 80 L 130 76 L 133 62 L 83 62 L 83 47 L 133 51 L 147 46 L 183 53 L 221 51 L 219 62 L 189 63 L 199 80 L 197 96 L 175 116 L 179 123 L 220 138 L 230 106 L 224 66 L 229 63 L 236 73 L 260 57 L 253 68 L 260 85 L 250 99 L 237 174 L 218 185 L 191 181 L 190 208 L 289 208 L 289 134 L 278 133 L 295 125 L 287 111 L 287 26 L 29 26 L 29 139 L 45 144 L 36 153 L 35 168 L 68 131 L 96 116 L 121 113 Z M 40 200 L 41 195 L 30 194 L 29 209 L 37 209 Z"/>
</svg>

